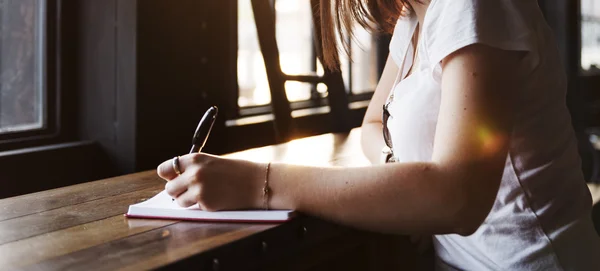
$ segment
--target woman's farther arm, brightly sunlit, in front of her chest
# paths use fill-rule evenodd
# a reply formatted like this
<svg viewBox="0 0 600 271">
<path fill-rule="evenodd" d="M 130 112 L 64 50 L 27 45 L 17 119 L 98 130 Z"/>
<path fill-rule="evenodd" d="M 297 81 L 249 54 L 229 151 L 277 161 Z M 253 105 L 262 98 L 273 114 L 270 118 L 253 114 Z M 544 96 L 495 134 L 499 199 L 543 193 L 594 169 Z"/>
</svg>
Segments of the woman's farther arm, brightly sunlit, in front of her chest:
<svg viewBox="0 0 600 271">
<path fill-rule="evenodd" d="M 383 74 L 375 93 L 369 102 L 369 107 L 365 113 L 365 118 L 361 127 L 361 146 L 365 156 L 372 164 L 379 164 L 381 158 L 381 150 L 385 147 L 382 134 L 381 117 L 383 114 L 383 104 L 393 87 L 398 67 L 391 56 L 388 56 Z"/>
</svg>

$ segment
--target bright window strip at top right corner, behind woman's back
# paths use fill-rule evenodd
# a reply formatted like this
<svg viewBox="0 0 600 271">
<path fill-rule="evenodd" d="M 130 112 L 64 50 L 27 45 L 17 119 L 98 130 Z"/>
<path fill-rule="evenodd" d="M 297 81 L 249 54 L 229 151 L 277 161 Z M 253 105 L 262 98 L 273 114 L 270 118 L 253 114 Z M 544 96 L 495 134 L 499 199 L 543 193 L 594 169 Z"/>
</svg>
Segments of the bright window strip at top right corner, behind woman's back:
<svg viewBox="0 0 600 271">
<path fill-rule="evenodd" d="M 600 69 L 600 2 L 581 0 L 581 67 Z"/>
</svg>

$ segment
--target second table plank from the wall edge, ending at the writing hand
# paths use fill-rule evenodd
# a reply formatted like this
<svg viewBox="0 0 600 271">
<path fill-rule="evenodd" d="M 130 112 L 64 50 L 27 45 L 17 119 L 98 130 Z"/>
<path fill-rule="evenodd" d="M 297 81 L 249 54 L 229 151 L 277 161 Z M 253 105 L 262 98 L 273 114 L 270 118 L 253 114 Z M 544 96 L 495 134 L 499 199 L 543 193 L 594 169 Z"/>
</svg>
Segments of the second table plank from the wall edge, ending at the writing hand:
<svg viewBox="0 0 600 271">
<path fill-rule="evenodd" d="M 1 221 L 0 244 L 122 215 L 129 205 L 148 199 L 163 189 L 162 185 L 154 185 L 140 191 Z"/>
</svg>

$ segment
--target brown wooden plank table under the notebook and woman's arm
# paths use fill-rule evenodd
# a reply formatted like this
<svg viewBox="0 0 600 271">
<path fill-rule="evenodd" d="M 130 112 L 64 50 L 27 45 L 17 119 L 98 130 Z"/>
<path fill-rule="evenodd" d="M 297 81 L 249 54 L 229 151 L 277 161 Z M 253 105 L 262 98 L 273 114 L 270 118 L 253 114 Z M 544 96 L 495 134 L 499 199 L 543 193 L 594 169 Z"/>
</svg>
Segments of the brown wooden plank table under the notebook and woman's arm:
<svg viewBox="0 0 600 271">
<path fill-rule="evenodd" d="M 367 161 L 359 141 L 353 130 L 229 156 L 361 166 Z M 0 200 L 0 269 L 382 270 L 412 264 L 402 238 L 307 216 L 280 225 L 123 216 L 164 185 L 148 171 Z M 396 251 L 404 256 L 392 255 Z"/>
</svg>

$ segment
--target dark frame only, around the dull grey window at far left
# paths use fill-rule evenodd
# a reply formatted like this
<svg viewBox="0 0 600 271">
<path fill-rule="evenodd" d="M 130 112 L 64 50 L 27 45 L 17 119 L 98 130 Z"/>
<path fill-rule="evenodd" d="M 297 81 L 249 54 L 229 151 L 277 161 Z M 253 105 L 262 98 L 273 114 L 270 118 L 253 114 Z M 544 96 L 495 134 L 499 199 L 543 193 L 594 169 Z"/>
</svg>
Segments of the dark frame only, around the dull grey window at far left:
<svg viewBox="0 0 600 271">
<path fill-rule="evenodd" d="M 48 145 L 60 142 L 60 75 L 61 75 L 61 0 L 45 0 L 43 37 L 42 91 L 45 108 L 43 110 L 44 126 L 27 131 L 6 132 L 0 134 L 0 151 Z"/>
</svg>

